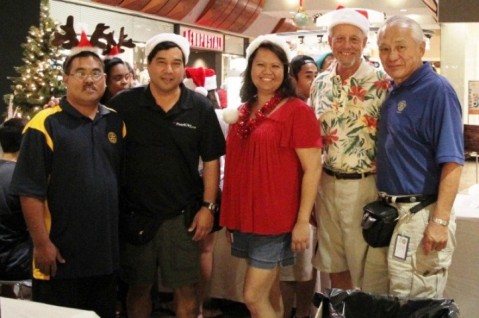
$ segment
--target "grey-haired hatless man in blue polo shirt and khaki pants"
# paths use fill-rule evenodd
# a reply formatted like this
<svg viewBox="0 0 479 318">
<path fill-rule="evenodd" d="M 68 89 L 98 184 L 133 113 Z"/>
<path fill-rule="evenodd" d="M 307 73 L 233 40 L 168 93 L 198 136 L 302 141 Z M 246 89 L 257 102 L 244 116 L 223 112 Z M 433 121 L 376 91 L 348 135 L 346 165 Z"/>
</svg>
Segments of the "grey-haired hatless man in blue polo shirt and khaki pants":
<svg viewBox="0 0 479 318">
<path fill-rule="evenodd" d="M 387 254 L 389 293 L 441 298 L 456 245 L 453 203 L 464 165 L 461 104 L 451 84 L 422 61 L 426 44 L 417 22 L 389 18 L 377 43 L 394 80 L 377 143 L 379 194 L 399 211 Z"/>
</svg>

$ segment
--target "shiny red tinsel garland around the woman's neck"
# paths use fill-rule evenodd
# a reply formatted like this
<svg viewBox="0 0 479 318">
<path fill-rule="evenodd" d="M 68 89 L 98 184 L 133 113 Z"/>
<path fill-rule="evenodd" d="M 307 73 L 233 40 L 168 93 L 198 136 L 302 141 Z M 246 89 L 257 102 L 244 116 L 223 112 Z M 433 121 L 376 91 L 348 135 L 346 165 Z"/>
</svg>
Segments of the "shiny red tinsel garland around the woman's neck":
<svg viewBox="0 0 479 318">
<path fill-rule="evenodd" d="M 264 103 L 264 105 L 254 113 L 254 118 L 250 118 L 252 108 L 251 103 L 248 102 L 244 104 L 239 110 L 238 136 L 241 139 L 248 138 L 251 132 L 265 120 L 273 109 L 278 106 L 282 99 L 283 95 L 278 93 L 274 94 L 269 101 Z"/>
</svg>

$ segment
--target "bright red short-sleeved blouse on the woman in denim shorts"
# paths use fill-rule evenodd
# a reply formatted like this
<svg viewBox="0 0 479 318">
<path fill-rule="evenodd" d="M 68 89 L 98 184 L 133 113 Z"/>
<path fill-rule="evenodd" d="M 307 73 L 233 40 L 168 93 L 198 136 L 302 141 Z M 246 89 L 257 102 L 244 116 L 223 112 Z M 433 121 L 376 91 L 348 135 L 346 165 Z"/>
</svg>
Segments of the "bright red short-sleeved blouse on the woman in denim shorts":
<svg viewBox="0 0 479 318">
<path fill-rule="evenodd" d="M 237 130 L 232 125 L 226 140 L 221 225 L 245 233 L 291 232 L 302 179 L 295 149 L 322 146 L 313 111 L 290 98 L 249 137 L 241 139 Z"/>
</svg>

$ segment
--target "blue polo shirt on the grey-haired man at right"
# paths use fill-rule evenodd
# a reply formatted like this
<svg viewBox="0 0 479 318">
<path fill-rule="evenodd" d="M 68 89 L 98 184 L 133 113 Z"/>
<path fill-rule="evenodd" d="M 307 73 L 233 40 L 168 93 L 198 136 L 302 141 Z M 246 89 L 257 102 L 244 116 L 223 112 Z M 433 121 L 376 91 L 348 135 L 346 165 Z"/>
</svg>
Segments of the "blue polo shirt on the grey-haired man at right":
<svg viewBox="0 0 479 318">
<path fill-rule="evenodd" d="M 379 120 L 379 191 L 437 195 L 442 165 L 464 164 L 461 116 L 454 89 L 429 63 L 393 85 Z"/>
</svg>

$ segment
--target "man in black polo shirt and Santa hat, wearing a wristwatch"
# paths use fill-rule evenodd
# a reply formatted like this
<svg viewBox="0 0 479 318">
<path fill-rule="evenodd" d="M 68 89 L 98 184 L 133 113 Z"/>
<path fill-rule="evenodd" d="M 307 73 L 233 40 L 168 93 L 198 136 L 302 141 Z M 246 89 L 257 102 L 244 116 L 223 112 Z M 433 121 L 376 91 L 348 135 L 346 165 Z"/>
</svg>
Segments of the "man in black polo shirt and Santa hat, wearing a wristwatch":
<svg viewBox="0 0 479 318">
<path fill-rule="evenodd" d="M 213 226 L 224 137 L 211 103 L 182 83 L 188 41 L 159 34 L 145 49 L 150 84 L 124 91 L 109 102 L 128 127 L 122 195 L 126 212 L 153 216 L 153 222 L 161 223 L 151 240 L 142 245 L 127 241 L 122 249 L 128 317 L 150 317 L 150 290 L 158 264 L 163 285 L 174 289 L 176 316 L 196 317 L 198 241 Z M 185 218 L 188 214 L 194 217 Z"/>
</svg>

